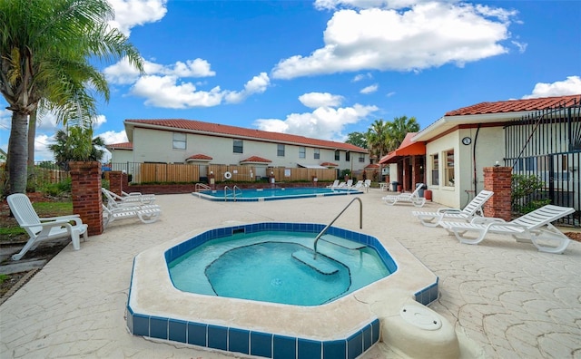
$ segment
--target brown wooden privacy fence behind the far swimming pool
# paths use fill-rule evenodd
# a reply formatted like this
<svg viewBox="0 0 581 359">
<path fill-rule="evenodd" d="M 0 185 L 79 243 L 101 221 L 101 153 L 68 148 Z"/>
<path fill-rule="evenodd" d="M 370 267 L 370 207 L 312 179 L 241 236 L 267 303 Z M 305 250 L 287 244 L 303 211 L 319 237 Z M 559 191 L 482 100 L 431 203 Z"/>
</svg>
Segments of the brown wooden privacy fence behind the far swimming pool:
<svg viewBox="0 0 581 359">
<path fill-rule="evenodd" d="M 254 166 L 235 165 L 191 165 L 191 164 L 165 164 L 165 163 L 140 163 L 138 170 L 133 174 L 133 183 L 147 182 L 199 182 L 202 177 L 213 173 L 216 181 L 230 180 L 233 182 L 249 182 L 260 179 L 256 176 Z M 333 181 L 337 171 L 332 169 L 304 169 L 269 167 L 266 175 L 271 172 L 277 182 L 284 181 L 311 181 L 316 177 L 320 181 Z"/>
</svg>

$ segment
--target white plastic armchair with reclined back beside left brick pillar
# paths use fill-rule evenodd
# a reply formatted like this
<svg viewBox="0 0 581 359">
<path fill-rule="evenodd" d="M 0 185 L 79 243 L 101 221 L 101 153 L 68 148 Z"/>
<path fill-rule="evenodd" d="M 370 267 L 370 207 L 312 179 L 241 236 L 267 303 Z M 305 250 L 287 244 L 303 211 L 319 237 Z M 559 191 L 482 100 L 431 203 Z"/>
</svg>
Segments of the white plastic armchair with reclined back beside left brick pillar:
<svg viewBox="0 0 581 359">
<path fill-rule="evenodd" d="M 39 218 L 30 199 L 23 193 L 15 193 L 6 199 L 20 227 L 25 228 L 30 238 L 20 252 L 12 256 L 19 260 L 27 251 L 34 249 L 44 240 L 71 237 L 75 250 L 81 248 L 80 237 L 86 240 L 88 226 L 78 215 Z"/>
</svg>

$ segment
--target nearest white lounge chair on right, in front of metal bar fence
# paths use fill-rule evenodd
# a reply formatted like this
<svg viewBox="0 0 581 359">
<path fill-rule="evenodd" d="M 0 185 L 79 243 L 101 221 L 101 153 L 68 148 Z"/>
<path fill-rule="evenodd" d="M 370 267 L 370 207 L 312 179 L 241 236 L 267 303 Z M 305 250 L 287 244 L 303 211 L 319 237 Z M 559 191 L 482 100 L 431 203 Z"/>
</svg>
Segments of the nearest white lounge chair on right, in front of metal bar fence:
<svg viewBox="0 0 581 359">
<path fill-rule="evenodd" d="M 563 218 L 575 209 L 547 205 L 524 216 L 506 222 L 500 218 L 475 217 L 469 223 L 439 222 L 450 234 L 454 234 L 460 243 L 478 244 L 488 233 L 511 235 L 517 242 L 532 242 L 538 250 L 547 253 L 563 253 L 570 239 L 551 223 Z M 473 233 L 469 237 L 467 234 Z"/>
</svg>

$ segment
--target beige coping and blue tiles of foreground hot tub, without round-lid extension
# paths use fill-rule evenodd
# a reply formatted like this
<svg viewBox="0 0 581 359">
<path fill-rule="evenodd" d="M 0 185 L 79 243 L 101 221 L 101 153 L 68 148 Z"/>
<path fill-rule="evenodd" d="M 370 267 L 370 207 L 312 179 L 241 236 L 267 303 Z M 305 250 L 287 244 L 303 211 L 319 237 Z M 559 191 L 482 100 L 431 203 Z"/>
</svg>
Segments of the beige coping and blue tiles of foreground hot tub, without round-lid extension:
<svg viewBox="0 0 581 359">
<path fill-rule="evenodd" d="M 267 223 L 271 225 L 273 222 Z M 322 226 L 308 223 L 291 225 L 303 231 L 310 226 Z M 401 304 L 409 298 L 427 305 L 438 297 L 438 277 L 417 258 L 398 246 L 391 248 L 400 252 L 393 256 L 387 248 L 389 246 L 366 234 L 361 235 L 377 241 L 368 245 L 384 247 L 393 257 L 398 270 L 322 306 L 289 306 L 203 296 L 185 293 L 172 286 L 165 253 L 172 257 L 189 250 L 183 244 L 204 233 L 213 231 L 214 235 L 222 236 L 235 228 L 257 226 L 260 227 L 261 223 L 202 228 L 136 256 L 127 302 L 129 331 L 133 335 L 266 357 L 275 354 L 277 357 L 280 354 L 298 358 L 312 357 L 311 354 L 320 352 L 321 358 L 355 358 L 379 340 L 380 316 L 386 313 L 397 314 Z M 334 230 L 360 234 L 342 228 Z M 358 241 L 357 238 L 350 239 Z M 402 267 L 399 262 L 406 265 Z M 418 266 L 410 268 L 413 263 Z M 409 276 L 410 269 L 416 275 L 420 271 L 426 276 L 415 276 L 415 279 L 409 280 L 405 276 L 406 273 Z M 424 279 L 419 280 L 419 277 Z M 393 283 L 399 284 L 395 290 L 390 288 Z M 407 288 L 402 288 L 403 285 Z M 392 296 L 397 296 L 397 300 Z"/>
</svg>

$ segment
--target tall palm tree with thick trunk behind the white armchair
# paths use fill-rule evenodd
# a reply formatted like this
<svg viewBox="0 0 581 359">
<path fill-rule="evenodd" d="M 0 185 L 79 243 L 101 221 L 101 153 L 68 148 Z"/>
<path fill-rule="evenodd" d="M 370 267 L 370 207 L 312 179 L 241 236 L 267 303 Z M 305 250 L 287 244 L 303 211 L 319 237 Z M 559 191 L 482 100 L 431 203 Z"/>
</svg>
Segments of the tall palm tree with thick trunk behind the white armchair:
<svg viewBox="0 0 581 359">
<path fill-rule="evenodd" d="M 103 74 L 89 60 L 126 56 L 143 72 L 143 60 L 126 36 L 106 24 L 106 0 L 0 0 L 0 92 L 13 112 L 8 141 L 8 194 L 24 192 L 28 118 L 46 100 L 58 121 L 90 121 L 92 92 L 109 98 Z"/>
</svg>

